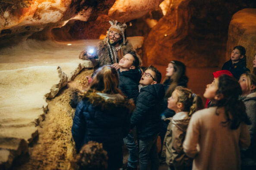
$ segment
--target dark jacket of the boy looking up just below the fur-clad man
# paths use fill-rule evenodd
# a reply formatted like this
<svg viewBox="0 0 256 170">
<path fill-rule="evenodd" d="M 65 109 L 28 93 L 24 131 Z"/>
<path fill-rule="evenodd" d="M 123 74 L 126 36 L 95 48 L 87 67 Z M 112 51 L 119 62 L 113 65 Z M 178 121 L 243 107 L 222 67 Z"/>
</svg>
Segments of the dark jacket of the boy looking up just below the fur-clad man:
<svg viewBox="0 0 256 170">
<path fill-rule="evenodd" d="M 138 69 L 119 72 L 119 88 L 128 99 L 133 99 L 134 103 L 139 95 L 140 78 L 141 74 Z"/>
</svg>

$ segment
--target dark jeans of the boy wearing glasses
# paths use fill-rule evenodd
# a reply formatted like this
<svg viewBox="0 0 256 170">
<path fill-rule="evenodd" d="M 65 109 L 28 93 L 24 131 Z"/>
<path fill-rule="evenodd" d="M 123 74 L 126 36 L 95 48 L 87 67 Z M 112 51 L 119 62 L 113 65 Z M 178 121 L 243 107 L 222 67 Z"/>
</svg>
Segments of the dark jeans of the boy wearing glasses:
<svg viewBox="0 0 256 170">
<path fill-rule="evenodd" d="M 158 170 L 157 138 L 158 134 L 148 140 L 139 140 L 139 170 L 149 170 L 149 162 L 151 170 Z"/>
</svg>

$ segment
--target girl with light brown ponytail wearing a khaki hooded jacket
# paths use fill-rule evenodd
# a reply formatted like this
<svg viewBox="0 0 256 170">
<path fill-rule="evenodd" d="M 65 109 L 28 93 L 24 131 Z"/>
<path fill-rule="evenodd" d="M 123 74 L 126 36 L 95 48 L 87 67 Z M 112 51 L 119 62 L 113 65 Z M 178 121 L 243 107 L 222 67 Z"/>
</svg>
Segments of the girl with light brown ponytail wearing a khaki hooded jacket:
<svg viewBox="0 0 256 170">
<path fill-rule="evenodd" d="M 171 122 L 164 138 L 166 163 L 169 170 L 191 170 L 193 159 L 185 155 L 182 143 L 191 115 L 203 108 L 202 99 L 189 89 L 177 86 L 168 98 L 168 108 L 174 110 L 175 115 L 169 118 Z"/>
</svg>

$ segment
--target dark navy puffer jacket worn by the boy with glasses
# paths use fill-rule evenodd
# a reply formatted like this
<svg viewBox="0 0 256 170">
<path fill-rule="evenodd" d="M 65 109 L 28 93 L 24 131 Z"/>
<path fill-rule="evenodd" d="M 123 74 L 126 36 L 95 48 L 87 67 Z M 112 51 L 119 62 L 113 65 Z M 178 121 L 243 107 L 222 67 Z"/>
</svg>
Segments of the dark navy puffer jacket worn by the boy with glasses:
<svg viewBox="0 0 256 170">
<path fill-rule="evenodd" d="M 136 125 L 139 139 L 149 139 L 160 132 L 161 100 L 163 98 L 164 86 L 161 84 L 141 88 L 136 109 L 131 117 L 131 128 Z"/>
</svg>

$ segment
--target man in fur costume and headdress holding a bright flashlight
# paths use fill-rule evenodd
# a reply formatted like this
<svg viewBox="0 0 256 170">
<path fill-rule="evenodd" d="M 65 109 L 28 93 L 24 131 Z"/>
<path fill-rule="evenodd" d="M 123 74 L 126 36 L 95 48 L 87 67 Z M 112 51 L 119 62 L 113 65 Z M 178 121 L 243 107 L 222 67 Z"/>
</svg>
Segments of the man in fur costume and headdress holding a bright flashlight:
<svg viewBox="0 0 256 170">
<path fill-rule="evenodd" d="M 118 62 L 129 51 L 135 51 L 132 44 L 126 39 L 126 24 L 117 21 L 109 21 L 111 27 L 107 31 L 107 36 L 99 42 L 96 54 L 89 54 L 87 51 L 80 53 L 79 58 L 83 60 L 92 60 L 98 58 L 99 66 L 112 65 L 119 68 Z"/>
</svg>

